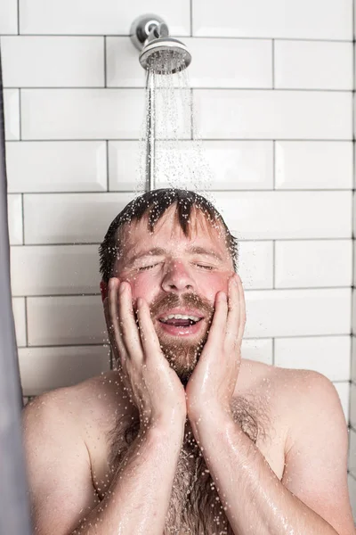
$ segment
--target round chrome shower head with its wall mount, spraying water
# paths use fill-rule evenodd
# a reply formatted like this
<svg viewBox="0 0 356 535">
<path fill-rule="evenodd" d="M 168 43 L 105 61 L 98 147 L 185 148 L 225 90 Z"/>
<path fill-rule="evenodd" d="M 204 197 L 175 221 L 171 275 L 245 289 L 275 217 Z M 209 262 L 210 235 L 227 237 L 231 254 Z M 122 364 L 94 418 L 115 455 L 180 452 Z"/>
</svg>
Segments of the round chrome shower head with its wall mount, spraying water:
<svg viewBox="0 0 356 535">
<path fill-rule="evenodd" d="M 187 47 L 169 37 L 166 22 L 156 15 L 144 15 L 131 27 L 131 39 L 139 50 L 143 69 L 157 74 L 174 74 L 186 69 L 191 62 Z"/>
</svg>

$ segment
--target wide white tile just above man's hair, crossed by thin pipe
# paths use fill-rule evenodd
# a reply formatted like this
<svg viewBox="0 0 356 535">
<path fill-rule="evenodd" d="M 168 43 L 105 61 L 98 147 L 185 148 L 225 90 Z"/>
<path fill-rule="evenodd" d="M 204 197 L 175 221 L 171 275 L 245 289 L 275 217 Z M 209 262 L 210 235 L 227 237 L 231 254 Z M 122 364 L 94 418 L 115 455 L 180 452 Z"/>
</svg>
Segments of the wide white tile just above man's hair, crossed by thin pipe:
<svg viewBox="0 0 356 535">
<path fill-rule="evenodd" d="M 136 141 L 109 142 L 109 190 L 134 191 L 145 147 Z M 156 185 L 181 186 L 182 174 L 206 189 L 272 189 L 273 147 L 271 141 L 158 141 Z M 174 168 L 175 166 L 175 168 Z M 206 181 L 206 169 L 212 179 Z M 167 180 L 167 176 L 172 177 Z M 178 176 L 174 172 L 178 170 Z M 192 176 L 194 175 L 194 178 Z"/>
</svg>

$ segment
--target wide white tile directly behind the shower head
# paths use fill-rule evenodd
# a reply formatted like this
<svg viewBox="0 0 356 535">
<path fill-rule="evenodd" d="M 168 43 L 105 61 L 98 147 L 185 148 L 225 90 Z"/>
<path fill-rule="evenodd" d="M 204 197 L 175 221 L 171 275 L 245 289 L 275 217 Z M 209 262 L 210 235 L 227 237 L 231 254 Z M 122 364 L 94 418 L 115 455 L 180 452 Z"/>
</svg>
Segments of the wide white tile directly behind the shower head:
<svg viewBox="0 0 356 535">
<path fill-rule="evenodd" d="M 271 41 L 186 37 L 183 42 L 192 61 L 180 77 L 173 77 L 174 84 L 180 81 L 190 87 L 272 87 Z M 129 37 L 107 38 L 107 76 L 109 87 L 146 85 L 138 51 Z"/>
</svg>

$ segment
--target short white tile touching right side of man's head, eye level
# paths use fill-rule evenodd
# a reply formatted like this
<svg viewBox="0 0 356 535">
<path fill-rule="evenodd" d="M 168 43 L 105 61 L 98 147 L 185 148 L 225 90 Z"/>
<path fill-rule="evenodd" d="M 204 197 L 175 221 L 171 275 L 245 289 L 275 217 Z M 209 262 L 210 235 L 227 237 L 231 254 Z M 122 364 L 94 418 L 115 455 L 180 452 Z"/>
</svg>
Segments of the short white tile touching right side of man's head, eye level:
<svg viewBox="0 0 356 535">
<path fill-rule="evenodd" d="M 240 242 L 239 276 L 246 290 L 273 287 L 273 243 Z"/>
</svg>

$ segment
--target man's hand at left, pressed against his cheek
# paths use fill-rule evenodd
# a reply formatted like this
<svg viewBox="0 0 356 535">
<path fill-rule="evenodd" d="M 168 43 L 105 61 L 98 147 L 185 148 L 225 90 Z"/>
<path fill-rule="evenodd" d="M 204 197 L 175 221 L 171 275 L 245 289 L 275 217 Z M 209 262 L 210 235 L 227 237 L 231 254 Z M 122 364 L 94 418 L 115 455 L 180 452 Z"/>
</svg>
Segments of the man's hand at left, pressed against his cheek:
<svg viewBox="0 0 356 535">
<path fill-rule="evenodd" d="M 113 277 L 109 280 L 104 312 L 110 345 L 121 365 L 123 383 L 139 410 L 141 424 L 184 423 L 184 387 L 160 348 L 148 303 L 142 298 L 137 300 L 138 328 L 131 285 L 120 284 Z"/>
</svg>

